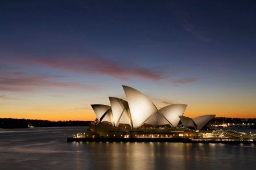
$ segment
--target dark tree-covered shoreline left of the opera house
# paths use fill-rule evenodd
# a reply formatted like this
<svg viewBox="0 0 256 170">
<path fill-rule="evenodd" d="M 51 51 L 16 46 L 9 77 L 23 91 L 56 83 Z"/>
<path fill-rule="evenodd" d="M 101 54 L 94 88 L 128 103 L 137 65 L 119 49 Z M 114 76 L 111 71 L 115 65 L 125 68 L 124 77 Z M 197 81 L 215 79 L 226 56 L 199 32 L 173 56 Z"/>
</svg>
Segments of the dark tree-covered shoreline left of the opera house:
<svg viewBox="0 0 256 170">
<path fill-rule="evenodd" d="M 56 126 L 89 126 L 92 121 L 49 121 L 18 118 L 0 118 L 0 128 L 29 128 L 34 127 L 56 127 Z"/>
</svg>

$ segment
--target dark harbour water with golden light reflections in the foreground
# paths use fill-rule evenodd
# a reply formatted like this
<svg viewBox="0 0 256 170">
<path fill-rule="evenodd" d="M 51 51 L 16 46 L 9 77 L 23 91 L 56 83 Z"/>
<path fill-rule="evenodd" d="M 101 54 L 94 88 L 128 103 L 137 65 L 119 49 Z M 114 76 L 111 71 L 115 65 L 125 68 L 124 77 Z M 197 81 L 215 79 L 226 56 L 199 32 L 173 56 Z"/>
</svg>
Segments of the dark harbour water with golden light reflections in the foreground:
<svg viewBox="0 0 256 170">
<path fill-rule="evenodd" d="M 69 143 L 64 134 L 71 137 L 86 128 L 39 129 L 0 131 L 0 169 L 246 170 L 256 167 L 256 145 Z"/>
</svg>

